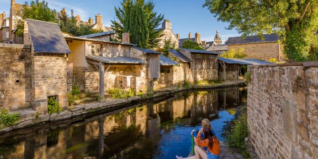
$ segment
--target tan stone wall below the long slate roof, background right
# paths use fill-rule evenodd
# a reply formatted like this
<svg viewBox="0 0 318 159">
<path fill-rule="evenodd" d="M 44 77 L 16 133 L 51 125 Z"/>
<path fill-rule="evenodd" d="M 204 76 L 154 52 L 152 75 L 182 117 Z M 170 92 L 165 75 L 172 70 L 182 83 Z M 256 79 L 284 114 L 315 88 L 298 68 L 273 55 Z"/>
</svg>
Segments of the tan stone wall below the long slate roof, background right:
<svg viewBox="0 0 318 159">
<path fill-rule="evenodd" d="M 283 60 L 283 51 L 278 42 L 229 45 L 228 48 L 229 50 L 243 48 L 247 58 L 250 59 L 269 60 L 275 58 L 279 61 L 279 56 L 281 56 L 281 60 Z"/>
</svg>

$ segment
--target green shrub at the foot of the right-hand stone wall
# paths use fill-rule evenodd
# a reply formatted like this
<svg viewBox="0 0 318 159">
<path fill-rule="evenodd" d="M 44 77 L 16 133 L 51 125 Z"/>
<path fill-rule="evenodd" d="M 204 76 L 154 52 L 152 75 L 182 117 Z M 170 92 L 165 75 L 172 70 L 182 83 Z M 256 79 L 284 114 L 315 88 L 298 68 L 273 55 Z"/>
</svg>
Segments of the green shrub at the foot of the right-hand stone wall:
<svg viewBox="0 0 318 159">
<path fill-rule="evenodd" d="M 234 125 L 226 136 L 226 142 L 230 147 L 238 148 L 244 158 L 248 159 L 248 152 L 246 151 L 245 138 L 248 136 L 247 131 L 247 115 L 246 112 L 241 114 L 238 119 L 234 120 Z"/>
</svg>

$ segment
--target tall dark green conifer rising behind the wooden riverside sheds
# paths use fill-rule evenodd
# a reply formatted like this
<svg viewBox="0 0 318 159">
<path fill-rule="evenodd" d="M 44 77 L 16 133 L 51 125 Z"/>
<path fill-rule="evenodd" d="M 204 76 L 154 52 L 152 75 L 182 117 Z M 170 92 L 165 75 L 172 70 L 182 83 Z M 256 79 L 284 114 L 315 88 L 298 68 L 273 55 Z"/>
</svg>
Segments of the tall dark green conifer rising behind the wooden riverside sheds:
<svg viewBox="0 0 318 159">
<path fill-rule="evenodd" d="M 162 30 L 156 29 L 163 20 L 163 15 L 154 11 L 155 4 L 144 0 L 123 0 L 121 7 L 115 7 L 119 21 L 111 20 L 112 29 L 122 39 L 122 33 L 129 32 L 130 42 L 141 48 L 155 48 L 162 36 Z"/>
</svg>

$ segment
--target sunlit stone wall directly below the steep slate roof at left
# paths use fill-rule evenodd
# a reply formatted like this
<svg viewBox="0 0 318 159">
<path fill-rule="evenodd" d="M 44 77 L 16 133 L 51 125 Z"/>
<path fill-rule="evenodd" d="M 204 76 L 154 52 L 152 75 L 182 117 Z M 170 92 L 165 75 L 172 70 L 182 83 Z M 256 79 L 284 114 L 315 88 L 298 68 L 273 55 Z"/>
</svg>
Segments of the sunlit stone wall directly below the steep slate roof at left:
<svg viewBox="0 0 318 159">
<path fill-rule="evenodd" d="M 47 113 L 49 96 L 57 96 L 59 105 L 67 108 L 67 58 L 65 54 L 32 53 L 32 108 Z"/>
</svg>

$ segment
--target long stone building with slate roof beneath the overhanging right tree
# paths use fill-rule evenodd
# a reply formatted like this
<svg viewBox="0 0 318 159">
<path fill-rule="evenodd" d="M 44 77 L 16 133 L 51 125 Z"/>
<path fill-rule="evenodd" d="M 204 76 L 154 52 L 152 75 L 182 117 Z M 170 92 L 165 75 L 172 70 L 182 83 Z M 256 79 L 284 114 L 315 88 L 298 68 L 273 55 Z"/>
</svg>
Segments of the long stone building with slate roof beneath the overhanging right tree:
<svg viewBox="0 0 318 159">
<path fill-rule="evenodd" d="M 228 49 L 244 49 L 246 58 L 269 60 L 275 58 L 277 61 L 284 61 L 283 47 L 279 43 L 277 34 L 264 34 L 264 40 L 257 36 L 247 36 L 246 39 L 241 37 L 230 37 L 227 41 Z"/>
</svg>

